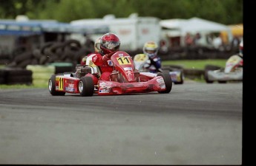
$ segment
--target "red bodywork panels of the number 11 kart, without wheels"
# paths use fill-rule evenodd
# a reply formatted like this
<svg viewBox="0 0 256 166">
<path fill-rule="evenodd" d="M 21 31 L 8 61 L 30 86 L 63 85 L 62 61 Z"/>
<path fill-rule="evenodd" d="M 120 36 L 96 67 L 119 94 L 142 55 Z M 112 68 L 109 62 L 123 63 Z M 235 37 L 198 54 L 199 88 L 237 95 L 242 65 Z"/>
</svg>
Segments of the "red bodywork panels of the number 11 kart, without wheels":
<svg viewBox="0 0 256 166">
<path fill-rule="evenodd" d="M 162 76 L 149 72 L 134 71 L 134 62 L 127 52 L 116 52 L 111 56 L 114 71 L 111 80 L 99 80 L 94 85 L 94 94 L 127 94 L 150 91 L 164 91 L 165 81 Z M 56 91 L 79 94 L 79 78 L 69 75 L 56 75 Z"/>
</svg>

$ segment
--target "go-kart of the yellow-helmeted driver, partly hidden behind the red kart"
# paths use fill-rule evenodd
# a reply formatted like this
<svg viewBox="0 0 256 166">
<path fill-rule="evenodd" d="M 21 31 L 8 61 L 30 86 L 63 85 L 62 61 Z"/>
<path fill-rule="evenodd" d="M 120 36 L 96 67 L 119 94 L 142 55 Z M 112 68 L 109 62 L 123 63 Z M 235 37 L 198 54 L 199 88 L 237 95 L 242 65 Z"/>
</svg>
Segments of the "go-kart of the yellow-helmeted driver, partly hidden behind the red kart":
<svg viewBox="0 0 256 166">
<path fill-rule="evenodd" d="M 157 71 L 157 69 L 154 67 L 154 65 L 149 66 L 148 68 L 145 68 L 145 64 L 148 63 L 148 56 L 145 54 L 137 54 L 134 56 L 134 65 L 135 69 L 139 70 L 140 72 L 151 72 L 157 74 L 157 72 L 168 72 L 168 74 L 171 76 L 171 80 L 174 84 L 183 84 L 184 82 L 184 75 L 183 71 L 177 68 L 168 67 L 163 68 L 160 71 Z"/>
</svg>

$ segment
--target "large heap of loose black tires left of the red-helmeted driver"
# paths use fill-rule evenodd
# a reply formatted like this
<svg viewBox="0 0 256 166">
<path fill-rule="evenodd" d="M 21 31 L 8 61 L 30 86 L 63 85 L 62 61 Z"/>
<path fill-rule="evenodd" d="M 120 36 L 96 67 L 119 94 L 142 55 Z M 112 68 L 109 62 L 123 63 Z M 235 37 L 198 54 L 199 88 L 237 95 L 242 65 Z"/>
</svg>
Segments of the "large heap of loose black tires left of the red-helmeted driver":
<svg viewBox="0 0 256 166">
<path fill-rule="evenodd" d="M 47 63 L 80 63 L 80 60 L 93 52 L 93 48 L 82 46 L 79 41 L 70 39 L 64 42 L 50 41 L 41 48 L 16 52 L 7 67 L 26 69 L 27 65 L 47 65 Z M 67 70 L 67 69 L 64 69 Z"/>
</svg>

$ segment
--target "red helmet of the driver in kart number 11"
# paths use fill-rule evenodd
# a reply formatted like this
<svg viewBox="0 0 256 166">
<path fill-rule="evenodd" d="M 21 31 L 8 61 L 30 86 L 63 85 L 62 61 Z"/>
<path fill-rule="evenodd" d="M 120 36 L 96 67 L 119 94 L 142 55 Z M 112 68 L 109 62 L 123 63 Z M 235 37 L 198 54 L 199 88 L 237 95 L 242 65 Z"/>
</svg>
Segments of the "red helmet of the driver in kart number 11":
<svg viewBox="0 0 256 166">
<path fill-rule="evenodd" d="M 119 38 L 114 33 L 106 33 L 100 41 L 100 49 L 104 54 L 118 51 L 120 47 Z"/>
</svg>

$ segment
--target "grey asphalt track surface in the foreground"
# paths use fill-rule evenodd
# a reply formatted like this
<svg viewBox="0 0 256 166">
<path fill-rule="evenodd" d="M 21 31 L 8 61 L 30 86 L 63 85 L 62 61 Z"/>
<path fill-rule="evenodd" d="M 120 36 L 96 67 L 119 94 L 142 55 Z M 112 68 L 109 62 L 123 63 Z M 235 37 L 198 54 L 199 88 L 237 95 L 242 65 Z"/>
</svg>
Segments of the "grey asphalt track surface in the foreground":
<svg viewBox="0 0 256 166">
<path fill-rule="evenodd" d="M 243 83 L 170 94 L 0 89 L 0 164 L 241 165 Z"/>
</svg>

